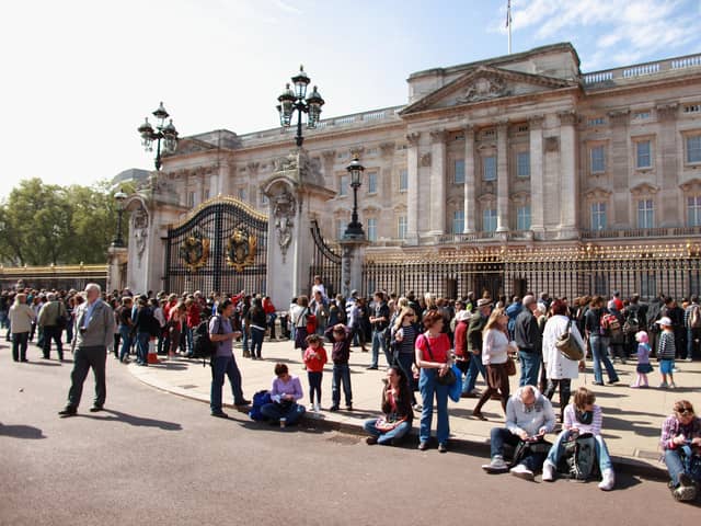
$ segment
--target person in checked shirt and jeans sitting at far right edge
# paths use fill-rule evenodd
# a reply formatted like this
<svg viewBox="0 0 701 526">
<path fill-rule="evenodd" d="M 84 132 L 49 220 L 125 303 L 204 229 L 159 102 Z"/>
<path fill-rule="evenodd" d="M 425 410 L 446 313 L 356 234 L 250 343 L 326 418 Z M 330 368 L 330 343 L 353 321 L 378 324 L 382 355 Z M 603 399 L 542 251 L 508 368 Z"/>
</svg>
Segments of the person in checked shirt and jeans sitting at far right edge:
<svg viewBox="0 0 701 526">
<path fill-rule="evenodd" d="M 693 480 L 691 462 L 701 459 L 701 419 L 687 400 L 675 402 L 674 413 L 662 424 L 660 446 L 663 460 L 669 472 L 669 489 L 677 501 L 692 501 L 698 493 L 700 480 Z"/>
</svg>

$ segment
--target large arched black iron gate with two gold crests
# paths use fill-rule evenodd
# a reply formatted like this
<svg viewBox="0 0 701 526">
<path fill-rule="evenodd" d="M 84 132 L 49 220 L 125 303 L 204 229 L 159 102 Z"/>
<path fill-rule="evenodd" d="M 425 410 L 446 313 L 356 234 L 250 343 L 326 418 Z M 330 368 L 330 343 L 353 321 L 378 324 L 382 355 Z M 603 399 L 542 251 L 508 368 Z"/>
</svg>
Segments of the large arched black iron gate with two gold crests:
<svg viewBox="0 0 701 526">
<path fill-rule="evenodd" d="M 267 217 L 233 197 L 218 197 L 168 229 L 164 288 L 265 293 Z"/>
</svg>

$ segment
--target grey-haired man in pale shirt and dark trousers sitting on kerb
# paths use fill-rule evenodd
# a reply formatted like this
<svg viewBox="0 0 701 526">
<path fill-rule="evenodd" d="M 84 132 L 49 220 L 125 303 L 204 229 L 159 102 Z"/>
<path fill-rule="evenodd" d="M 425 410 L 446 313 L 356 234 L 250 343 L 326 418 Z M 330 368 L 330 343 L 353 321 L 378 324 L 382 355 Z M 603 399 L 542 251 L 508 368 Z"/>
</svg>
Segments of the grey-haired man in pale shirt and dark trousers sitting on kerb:
<svg viewBox="0 0 701 526">
<path fill-rule="evenodd" d="M 509 444 L 524 451 L 521 458 L 514 459 L 512 474 L 533 480 L 535 472 L 540 470 L 548 453 L 543 437 L 554 427 L 555 413 L 550 400 L 533 386 L 520 387 L 506 403 L 506 427 L 492 428 L 492 460 L 482 466 L 482 469 L 490 473 L 508 470 L 508 465 L 504 461 L 504 445 Z M 517 447 L 521 443 L 527 443 L 528 447 Z"/>
</svg>

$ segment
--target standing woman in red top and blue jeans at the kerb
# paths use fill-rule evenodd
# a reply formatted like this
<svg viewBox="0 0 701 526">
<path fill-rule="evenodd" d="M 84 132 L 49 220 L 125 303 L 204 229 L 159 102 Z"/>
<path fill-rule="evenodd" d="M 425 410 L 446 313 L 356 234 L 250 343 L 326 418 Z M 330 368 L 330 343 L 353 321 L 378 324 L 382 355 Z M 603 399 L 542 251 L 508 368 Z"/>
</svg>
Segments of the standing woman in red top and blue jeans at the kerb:
<svg viewBox="0 0 701 526">
<path fill-rule="evenodd" d="M 450 424 L 448 421 L 448 386 L 438 382 L 438 377 L 450 369 L 450 340 L 443 333 L 443 315 L 436 310 L 424 317 L 426 332 L 416 339 L 416 365 L 421 367 L 418 390 L 422 396 L 421 427 L 418 432 L 418 449 L 428 449 L 430 422 L 434 416 L 434 395 L 438 408 L 436 437 L 438 451 L 448 450 Z"/>
</svg>

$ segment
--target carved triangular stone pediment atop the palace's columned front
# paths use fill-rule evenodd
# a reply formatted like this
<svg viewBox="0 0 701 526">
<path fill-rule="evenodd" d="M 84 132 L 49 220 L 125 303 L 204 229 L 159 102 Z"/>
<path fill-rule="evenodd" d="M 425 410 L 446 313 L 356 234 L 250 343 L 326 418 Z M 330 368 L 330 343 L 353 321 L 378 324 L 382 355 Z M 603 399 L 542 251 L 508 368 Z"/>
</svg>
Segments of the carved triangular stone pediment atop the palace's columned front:
<svg viewBox="0 0 701 526">
<path fill-rule="evenodd" d="M 578 88 L 575 81 L 521 73 L 492 66 L 479 66 L 453 81 L 410 104 L 400 115 L 483 103 L 509 96 Z"/>
</svg>

